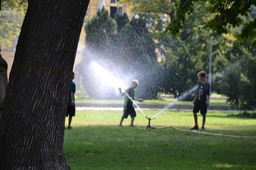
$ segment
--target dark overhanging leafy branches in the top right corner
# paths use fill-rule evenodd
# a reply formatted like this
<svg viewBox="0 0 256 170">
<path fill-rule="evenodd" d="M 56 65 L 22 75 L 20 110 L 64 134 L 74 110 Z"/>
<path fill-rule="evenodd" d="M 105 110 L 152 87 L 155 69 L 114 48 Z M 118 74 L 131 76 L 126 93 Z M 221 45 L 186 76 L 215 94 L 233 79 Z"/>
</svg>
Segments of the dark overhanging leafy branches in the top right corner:
<svg viewBox="0 0 256 170">
<path fill-rule="evenodd" d="M 228 1 L 228 0 L 180 0 L 175 2 L 175 17 L 170 24 L 169 30 L 173 33 L 179 32 L 186 22 L 186 15 L 190 14 L 198 2 L 206 3 L 206 10 L 209 13 L 214 14 L 214 17 L 207 20 L 205 27 L 209 27 L 216 33 L 228 33 L 228 26 L 240 27 L 241 32 L 237 34 L 237 37 L 241 40 L 250 38 L 255 44 L 255 5 L 254 0 L 248 1 Z M 243 17 L 252 17 L 243 22 Z"/>
</svg>

